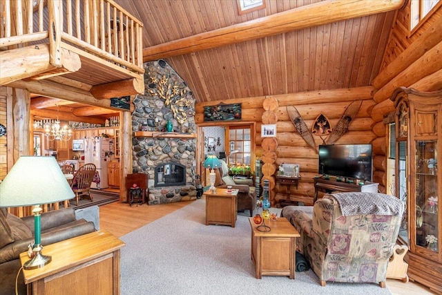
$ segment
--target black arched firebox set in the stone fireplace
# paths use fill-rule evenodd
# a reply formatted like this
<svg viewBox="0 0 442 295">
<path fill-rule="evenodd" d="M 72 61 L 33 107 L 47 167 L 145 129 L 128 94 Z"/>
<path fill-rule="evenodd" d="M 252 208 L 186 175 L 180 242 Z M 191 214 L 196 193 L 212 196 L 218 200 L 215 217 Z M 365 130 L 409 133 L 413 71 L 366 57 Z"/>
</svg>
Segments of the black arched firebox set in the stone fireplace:
<svg viewBox="0 0 442 295">
<path fill-rule="evenodd" d="M 186 184 L 186 166 L 164 163 L 155 167 L 155 187 L 174 187 Z"/>
</svg>

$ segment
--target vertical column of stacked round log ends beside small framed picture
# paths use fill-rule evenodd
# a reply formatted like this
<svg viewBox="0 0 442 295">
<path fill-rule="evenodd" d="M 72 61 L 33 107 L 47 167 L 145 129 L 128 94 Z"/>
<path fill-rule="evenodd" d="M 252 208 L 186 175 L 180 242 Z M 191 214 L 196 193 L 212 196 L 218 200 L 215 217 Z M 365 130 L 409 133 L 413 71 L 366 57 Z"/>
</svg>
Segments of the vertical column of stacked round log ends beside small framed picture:
<svg viewBox="0 0 442 295">
<path fill-rule="evenodd" d="M 278 99 L 275 97 L 267 96 L 262 103 L 264 108 L 264 113 L 262 113 L 261 121 L 262 124 L 276 124 L 278 122 L 278 115 L 276 111 L 278 110 L 279 103 Z M 262 146 L 262 178 L 261 184 L 264 187 L 264 180 L 269 180 L 269 199 L 271 205 L 274 206 L 276 203 L 275 196 L 275 177 L 273 176 L 276 172 L 276 149 L 278 149 L 278 140 L 276 137 L 265 137 L 261 142 Z"/>
</svg>

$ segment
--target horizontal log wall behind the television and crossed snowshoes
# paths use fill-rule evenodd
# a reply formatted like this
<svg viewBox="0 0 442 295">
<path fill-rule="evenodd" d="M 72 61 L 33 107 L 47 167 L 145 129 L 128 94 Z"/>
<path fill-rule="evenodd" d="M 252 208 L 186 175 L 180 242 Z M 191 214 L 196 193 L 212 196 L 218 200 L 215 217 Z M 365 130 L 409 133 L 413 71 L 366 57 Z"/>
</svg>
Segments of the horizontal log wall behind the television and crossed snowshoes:
<svg viewBox="0 0 442 295">
<path fill-rule="evenodd" d="M 285 95 L 272 95 L 276 99 L 277 108 L 272 108 L 278 121 L 277 130 L 277 148 L 275 166 L 281 163 L 300 164 L 301 180 L 298 188 L 295 186 L 285 186 L 276 183 L 272 189 L 271 201 L 276 203 L 279 200 L 302 201 L 305 204 L 313 204 L 314 197 L 314 176 L 318 174 L 318 153 L 299 135 L 294 124 L 291 123 L 287 115 L 286 106 L 295 106 L 302 118 L 305 120 L 309 129 L 314 120 L 320 113 L 326 115 L 332 128 L 343 115 L 345 108 L 356 99 L 362 99 L 363 104 L 356 114 L 356 118 L 349 125 L 349 131 L 336 142 L 336 144 L 368 144 L 377 138 L 372 131 L 374 121 L 369 113 L 375 106 L 372 99 L 374 88 L 371 86 L 360 88 L 345 88 L 327 91 L 309 91 L 303 93 L 291 93 Z M 269 110 L 265 106 L 266 97 L 244 97 L 242 99 L 230 99 L 223 101 L 225 104 L 242 103 L 242 120 L 256 122 L 256 157 L 265 157 L 265 151 L 261 144 L 261 125 L 263 124 L 262 115 Z M 267 99 L 269 101 L 269 99 Z M 212 106 L 221 102 L 204 102 L 195 105 L 195 122 L 201 124 L 204 121 L 204 106 Z M 319 136 L 314 136 L 316 146 L 323 144 Z M 268 137 L 267 137 L 268 138 Z M 275 169 L 276 171 L 276 169 Z"/>
</svg>

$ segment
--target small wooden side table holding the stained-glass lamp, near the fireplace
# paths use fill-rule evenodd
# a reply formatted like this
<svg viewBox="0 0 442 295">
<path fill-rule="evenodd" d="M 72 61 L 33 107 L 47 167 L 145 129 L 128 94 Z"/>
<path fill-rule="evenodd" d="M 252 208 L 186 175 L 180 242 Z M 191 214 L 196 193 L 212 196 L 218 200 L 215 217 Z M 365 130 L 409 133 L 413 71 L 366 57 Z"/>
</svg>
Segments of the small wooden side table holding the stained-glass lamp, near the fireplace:
<svg viewBox="0 0 442 295">
<path fill-rule="evenodd" d="M 206 196 L 206 225 L 230 225 L 235 227 L 238 208 L 238 189 L 216 189 L 204 193 Z"/>
</svg>

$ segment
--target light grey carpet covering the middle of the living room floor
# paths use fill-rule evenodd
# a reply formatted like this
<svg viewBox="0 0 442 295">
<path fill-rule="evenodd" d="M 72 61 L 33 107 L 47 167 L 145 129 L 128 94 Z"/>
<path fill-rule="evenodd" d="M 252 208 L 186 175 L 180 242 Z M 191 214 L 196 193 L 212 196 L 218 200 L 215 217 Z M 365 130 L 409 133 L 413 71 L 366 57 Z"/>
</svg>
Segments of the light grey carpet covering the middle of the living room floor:
<svg viewBox="0 0 442 295">
<path fill-rule="evenodd" d="M 205 225 L 205 200 L 122 236 L 121 294 L 387 295 L 376 284 L 329 283 L 311 270 L 255 278 L 248 214 L 236 227 Z"/>
</svg>

